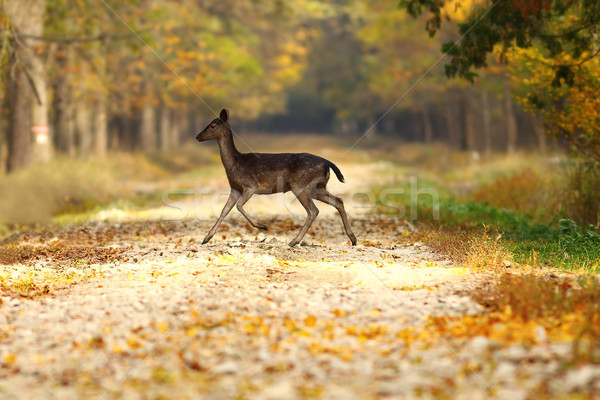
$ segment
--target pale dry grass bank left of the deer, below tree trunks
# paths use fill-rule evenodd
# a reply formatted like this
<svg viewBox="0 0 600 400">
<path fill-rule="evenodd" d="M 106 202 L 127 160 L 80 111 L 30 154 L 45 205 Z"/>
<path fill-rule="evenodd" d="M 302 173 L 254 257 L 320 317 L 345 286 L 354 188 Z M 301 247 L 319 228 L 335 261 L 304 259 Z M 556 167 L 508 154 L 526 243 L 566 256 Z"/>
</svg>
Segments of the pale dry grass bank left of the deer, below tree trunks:
<svg viewBox="0 0 600 400">
<path fill-rule="evenodd" d="M 161 185 L 168 186 L 178 175 L 215 163 L 211 154 L 210 149 L 188 146 L 169 153 L 57 158 L 32 165 L 0 176 L 0 225 L 45 224 L 54 215 L 83 213 L 121 199 L 148 197 L 140 187 L 156 187 L 160 192 Z"/>
</svg>

